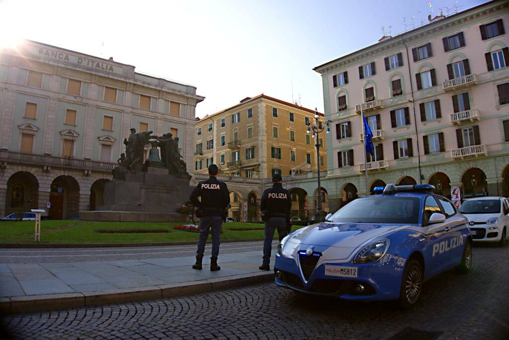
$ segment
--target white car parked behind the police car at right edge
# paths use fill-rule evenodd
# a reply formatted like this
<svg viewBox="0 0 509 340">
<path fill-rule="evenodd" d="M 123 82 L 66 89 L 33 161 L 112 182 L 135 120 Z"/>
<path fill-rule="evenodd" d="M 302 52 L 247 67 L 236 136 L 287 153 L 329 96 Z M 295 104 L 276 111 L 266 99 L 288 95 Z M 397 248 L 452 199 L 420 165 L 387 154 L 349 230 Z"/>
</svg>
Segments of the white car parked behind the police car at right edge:
<svg viewBox="0 0 509 340">
<path fill-rule="evenodd" d="M 505 244 L 509 227 L 509 200 L 505 197 L 476 197 L 461 205 L 474 241 Z"/>
</svg>

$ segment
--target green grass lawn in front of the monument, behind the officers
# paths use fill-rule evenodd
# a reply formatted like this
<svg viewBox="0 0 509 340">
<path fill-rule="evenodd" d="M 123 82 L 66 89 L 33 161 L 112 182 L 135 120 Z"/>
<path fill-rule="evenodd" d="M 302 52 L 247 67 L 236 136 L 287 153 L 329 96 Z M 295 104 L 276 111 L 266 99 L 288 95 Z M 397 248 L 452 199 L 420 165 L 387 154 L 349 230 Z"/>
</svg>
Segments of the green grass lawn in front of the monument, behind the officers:
<svg viewBox="0 0 509 340">
<path fill-rule="evenodd" d="M 43 220 L 41 243 L 143 243 L 195 242 L 198 233 L 173 229 L 183 222 L 93 222 L 71 220 Z M 35 243 L 34 221 L 0 222 L 0 243 Z M 302 228 L 293 226 L 292 230 Z M 98 233 L 99 230 L 165 230 L 167 233 Z M 232 230 L 241 229 L 241 230 Z M 261 230 L 257 230 L 261 229 Z M 263 224 L 223 223 L 221 240 L 262 239 Z M 210 239 L 210 235 L 209 235 Z M 276 239 L 276 237 L 274 237 Z"/>
</svg>

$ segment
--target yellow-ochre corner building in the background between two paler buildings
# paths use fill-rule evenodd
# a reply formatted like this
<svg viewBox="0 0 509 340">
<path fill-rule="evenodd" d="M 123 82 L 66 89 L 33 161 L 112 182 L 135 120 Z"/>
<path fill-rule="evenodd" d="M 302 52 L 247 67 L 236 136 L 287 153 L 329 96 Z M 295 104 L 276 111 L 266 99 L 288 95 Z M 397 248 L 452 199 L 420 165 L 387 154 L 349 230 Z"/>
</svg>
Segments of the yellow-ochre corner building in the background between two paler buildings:
<svg viewBox="0 0 509 340">
<path fill-rule="evenodd" d="M 326 170 L 325 130 L 319 159 L 313 132 L 306 132 L 314 116 L 312 109 L 264 94 L 207 115 L 195 125 L 195 173 L 206 173 L 212 163 L 220 174 L 246 178 L 316 172 L 318 162 Z"/>
</svg>

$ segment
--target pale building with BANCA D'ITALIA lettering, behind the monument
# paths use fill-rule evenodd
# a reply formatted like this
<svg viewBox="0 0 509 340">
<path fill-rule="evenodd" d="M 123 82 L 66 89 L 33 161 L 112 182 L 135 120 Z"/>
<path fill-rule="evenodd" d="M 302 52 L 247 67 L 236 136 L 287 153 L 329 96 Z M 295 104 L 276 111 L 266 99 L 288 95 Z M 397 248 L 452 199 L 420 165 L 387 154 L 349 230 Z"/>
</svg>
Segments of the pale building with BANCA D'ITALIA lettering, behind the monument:
<svg viewBox="0 0 509 340">
<path fill-rule="evenodd" d="M 203 100 L 112 58 L 34 41 L 0 51 L 0 216 L 40 208 L 62 219 L 101 205 L 131 127 L 172 132 L 192 166 Z"/>
</svg>

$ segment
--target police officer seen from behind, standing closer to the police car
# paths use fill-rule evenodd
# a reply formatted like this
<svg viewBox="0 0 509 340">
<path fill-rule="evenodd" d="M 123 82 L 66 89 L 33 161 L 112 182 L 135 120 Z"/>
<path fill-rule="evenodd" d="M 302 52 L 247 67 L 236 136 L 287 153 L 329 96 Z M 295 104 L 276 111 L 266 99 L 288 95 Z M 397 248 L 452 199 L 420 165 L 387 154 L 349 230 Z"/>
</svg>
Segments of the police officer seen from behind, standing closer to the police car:
<svg viewBox="0 0 509 340">
<path fill-rule="evenodd" d="M 289 230 L 290 210 L 292 209 L 292 197 L 290 191 L 283 189 L 280 174 L 272 176 L 272 188 L 264 191 L 260 203 L 262 219 L 265 221 L 265 241 L 263 242 L 263 264 L 261 270 L 270 270 L 270 253 L 272 250 L 272 237 L 277 229 L 279 241 L 281 241 Z"/>
</svg>

